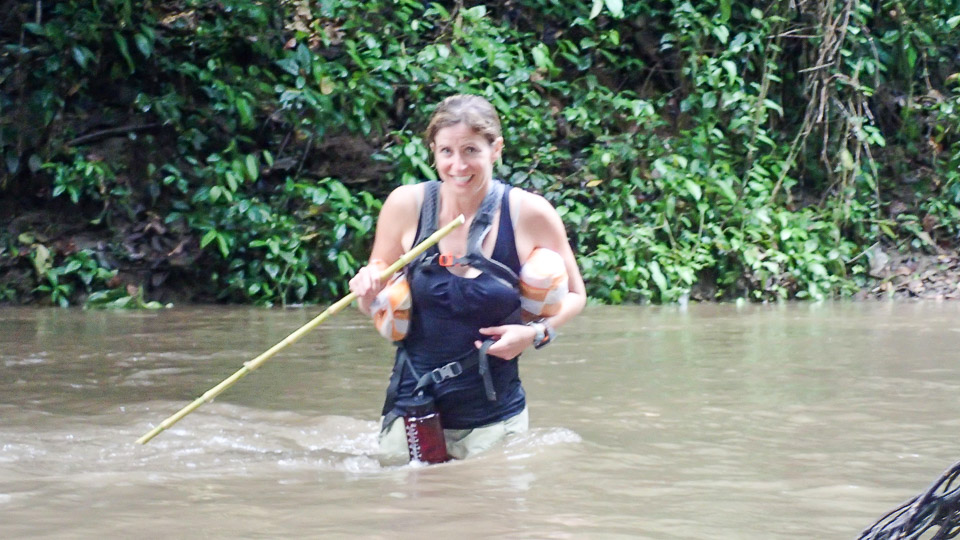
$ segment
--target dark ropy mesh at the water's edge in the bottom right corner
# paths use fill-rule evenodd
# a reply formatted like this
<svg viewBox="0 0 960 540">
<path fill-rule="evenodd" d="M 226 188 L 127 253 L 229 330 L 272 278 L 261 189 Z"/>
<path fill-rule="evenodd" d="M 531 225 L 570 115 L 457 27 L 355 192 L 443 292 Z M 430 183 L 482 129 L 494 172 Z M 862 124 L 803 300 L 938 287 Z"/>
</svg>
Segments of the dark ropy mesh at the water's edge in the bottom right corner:
<svg viewBox="0 0 960 540">
<path fill-rule="evenodd" d="M 929 489 L 860 533 L 858 540 L 942 540 L 960 534 L 960 462 Z"/>
</svg>

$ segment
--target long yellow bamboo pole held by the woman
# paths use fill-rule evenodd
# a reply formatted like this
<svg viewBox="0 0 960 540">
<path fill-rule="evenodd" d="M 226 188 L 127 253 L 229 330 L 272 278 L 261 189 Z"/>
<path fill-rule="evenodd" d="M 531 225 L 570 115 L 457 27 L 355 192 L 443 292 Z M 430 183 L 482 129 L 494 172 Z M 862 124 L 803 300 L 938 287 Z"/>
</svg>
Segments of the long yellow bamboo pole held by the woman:
<svg viewBox="0 0 960 540">
<path fill-rule="evenodd" d="M 397 262 L 387 267 L 387 269 L 380 274 L 380 279 L 382 280 L 389 279 L 390 276 L 392 276 L 395 272 L 397 272 L 404 266 L 410 264 L 413 261 L 413 259 L 417 257 L 417 255 L 420 255 L 421 253 L 426 251 L 430 246 L 439 242 L 441 238 L 450 234 L 450 231 L 452 231 L 453 229 L 456 229 L 460 225 L 463 225 L 464 221 L 465 221 L 465 218 L 463 217 L 463 214 L 461 214 L 457 216 L 456 219 L 448 223 L 446 226 L 444 226 L 443 228 L 437 230 L 437 232 L 428 236 L 426 240 L 424 240 L 423 242 L 420 242 L 419 244 L 411 248 L 410 251 L 404 253 L 399 259 L 397 259 Z M 291 345 L 293 343 L 296 343 L 296 341 L 299 340 L 301 337 L 303 337 L 307 332 L 309 332 L 310 330 L 313 330 L 314 327 L 316 327 L 318 324 L 322 323 L 323 321 L 327 320 L 331 315 L 337 313 L 338 311 L 350 305 L 350 302 L 353 302 L 354 300 L 356 300 L 356 298 L 357 298 L 356 293 L 351 292 L 350 294 L 338 300 L 335 304 L 325 309 L 323 313 L 314 317 L 312 321 L 301 326 L 298 330 L 296 330 L 295 332 L 293 332 L 292 334 L 284 338 L 283 341 L 281 341 L 280 343 L 277 343 L 273 347 L 270 347 L 266 352 L 254 358 L 253 360 L 244 362 L 243 367 L 237 370 L 236 373 L 227 377 L 226 379 L 223 380 L 223 382 L 214 386 L 210 390 L 207 390 L 202 396 L 193 400 L 192 403 L 180 409 L 176 414 L 170 416 L 163 422 L 160 422 L 160 425 L 151 429 L 149 432 L 147 432 L 142 437 L 137 439 L 137 443 L 147 444 L 148 442 L 150 442 L 150 439 L 159 435 L 161 431 L 165 429 L 169 429 L 170 426 L 179 422 L 181 418 L 193 412 L 200 405 L 203 405 L 204 403 L 219 396 L 221 392 L 223 392 L 227 388 L 230 388 L 231 386 L 234 385 L 234 383 L 244 378 L 247 375 L 247 373 L 250 373 L 251 371 L 260 367 L 264 362 L 269 360 L 270 357 L 272 357 L 273 355 L 280 352 L 280 350 L 283 349 L 284 347 Z"/>
</svg>

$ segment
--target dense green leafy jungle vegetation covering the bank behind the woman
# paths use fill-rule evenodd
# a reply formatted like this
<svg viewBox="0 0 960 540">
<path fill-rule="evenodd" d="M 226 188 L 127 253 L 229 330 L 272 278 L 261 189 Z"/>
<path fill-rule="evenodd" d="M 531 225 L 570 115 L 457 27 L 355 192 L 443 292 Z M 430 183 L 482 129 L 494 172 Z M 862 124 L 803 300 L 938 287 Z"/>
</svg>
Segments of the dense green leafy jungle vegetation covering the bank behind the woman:
<svg viewBox="0 0 960 540">
<path fill-rule="evenodd" d="M 558 208 L 599 301 L 960 269 L 960 0 L 0 12 L 0 303 L 334 298 L 380 201 L 434 178 L 420 133 L 456 92 L 497 106 L 497 174 Z"/>
</svg>

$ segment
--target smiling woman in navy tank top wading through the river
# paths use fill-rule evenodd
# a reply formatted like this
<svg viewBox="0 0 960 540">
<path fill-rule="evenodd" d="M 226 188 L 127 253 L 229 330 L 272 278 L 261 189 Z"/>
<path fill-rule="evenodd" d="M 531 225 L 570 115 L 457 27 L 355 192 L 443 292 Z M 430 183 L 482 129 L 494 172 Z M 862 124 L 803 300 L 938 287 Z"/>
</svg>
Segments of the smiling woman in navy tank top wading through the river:
<svg viewBox="0 0 960 540">
<path fill-rule="evenodd" d="M 527 429 L 518 359 L 543 346 L 555 329 L 583 309 L 583 279 L 563 223 L 543 197 L 511 189 L 493 177 L 504 141 L 494 107 L 454 95 L 437 107 L 425 141 L 439 182 L 401 186 L 383 204 L 370 264 L 350 281 L 369 312 L 383 288 L 379 261 L 393 260 L 424 235 L 463 214 L 454 230 L 404 270 L 412 295 L 406 335 L 397 355 L 380 434 L 385 458 L 421 459 L 406 424 L 405 403 L 433 402 L 446 453 L 464 458 Z M 534 250 L 560 255 L 569 293 L 548 318 L 524 324 L 519 274 Z M 438 435 L 439 437 L 439 435 Z M 437 460 L 446 459 L 441 455 Z M 422 460 L 422 459 L 421 459 Z"/>
</svg>

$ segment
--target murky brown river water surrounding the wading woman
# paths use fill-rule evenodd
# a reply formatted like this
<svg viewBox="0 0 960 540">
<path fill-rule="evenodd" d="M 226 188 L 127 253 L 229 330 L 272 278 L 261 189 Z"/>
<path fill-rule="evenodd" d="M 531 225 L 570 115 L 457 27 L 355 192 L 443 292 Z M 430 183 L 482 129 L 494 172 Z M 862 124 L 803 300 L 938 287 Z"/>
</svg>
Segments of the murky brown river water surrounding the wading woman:
<svg viewBox="0 0 960 540">
<path fill-rule="evenodd" d="M 385 465 L 390 345 L 348 309 L 0 309 L 0 538 L 854 539 L 960 460 L 960 303 L 588 307 L 521 360 L 531 430 Z"/>
</svg>

